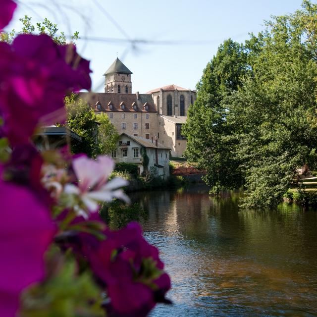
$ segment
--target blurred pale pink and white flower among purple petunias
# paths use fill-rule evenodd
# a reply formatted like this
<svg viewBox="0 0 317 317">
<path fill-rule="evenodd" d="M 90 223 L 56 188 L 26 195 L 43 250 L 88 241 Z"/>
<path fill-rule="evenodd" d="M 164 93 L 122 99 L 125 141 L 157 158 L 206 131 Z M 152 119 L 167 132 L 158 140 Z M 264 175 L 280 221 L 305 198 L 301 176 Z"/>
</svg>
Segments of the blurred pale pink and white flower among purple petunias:
<svg viewBox="0 0 317 317">
<path fill-rule="evenodd" d="M 115 177 L 107 181 L 114 167 L 112 159 L 99 156 L 93 160 L 81 156 L 73 159 L 72 166 L 78 186 L 66 184 L 64 193 L 78 199 L 79 204 L 73 206 L 78 215 L 88 217 L 89 212 L 98 211 L 99 203 L 110 202 L 113 198 L 129 202 L 129 198 L 118 189 L 127 185 L 126 180 Z"/>
</svg>

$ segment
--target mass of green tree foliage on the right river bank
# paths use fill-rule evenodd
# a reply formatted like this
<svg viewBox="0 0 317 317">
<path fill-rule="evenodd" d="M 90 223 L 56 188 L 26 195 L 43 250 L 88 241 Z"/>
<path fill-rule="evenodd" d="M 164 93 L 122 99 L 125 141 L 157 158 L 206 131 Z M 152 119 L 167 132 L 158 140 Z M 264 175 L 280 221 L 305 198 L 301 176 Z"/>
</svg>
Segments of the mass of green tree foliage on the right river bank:
<svg viewBox="0 0 317 317">
<path fill-rule="evenodd" d="M 316 167 L 316 30 L 317 5 L 305 0 L 208 63 L 183 132 L 215 192 L 244 185 L 243 206 L 271 208 L 298 167 Z"/>
</svg>

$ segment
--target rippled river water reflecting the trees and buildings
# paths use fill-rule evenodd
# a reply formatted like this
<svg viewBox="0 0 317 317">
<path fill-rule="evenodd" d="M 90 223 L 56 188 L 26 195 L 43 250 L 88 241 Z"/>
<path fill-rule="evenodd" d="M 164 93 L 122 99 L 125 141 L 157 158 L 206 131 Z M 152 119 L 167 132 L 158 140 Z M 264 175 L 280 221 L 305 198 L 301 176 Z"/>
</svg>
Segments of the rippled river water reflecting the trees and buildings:
<svg viewBox="0 0 317 317">
<path fill-rule="evenodd" d="M 243 211 L 203 185 L 138 195 L 172 279 L 151 317 L 317 316 L 317 211 Z"/>
</svg>

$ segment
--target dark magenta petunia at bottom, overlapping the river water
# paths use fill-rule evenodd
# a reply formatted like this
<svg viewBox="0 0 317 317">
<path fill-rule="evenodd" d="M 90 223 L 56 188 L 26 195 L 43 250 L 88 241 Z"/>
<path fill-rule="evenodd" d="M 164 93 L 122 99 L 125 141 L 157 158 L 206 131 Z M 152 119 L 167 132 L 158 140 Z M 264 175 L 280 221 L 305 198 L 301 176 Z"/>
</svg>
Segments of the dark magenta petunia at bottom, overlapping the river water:
<svg viewBox="0 0 317 317">
<path fill-rule="evenodd" d="M 107 229 L 106 240 L 96 246 L 82 236 L 82 252 L 92 270 L 106 285 L 109 316 L 147 316 L 170 288 L 169 276 L 162 271 L 158 249 L 142 236 L 138 223 L 117 231 Z"/>
</svg>

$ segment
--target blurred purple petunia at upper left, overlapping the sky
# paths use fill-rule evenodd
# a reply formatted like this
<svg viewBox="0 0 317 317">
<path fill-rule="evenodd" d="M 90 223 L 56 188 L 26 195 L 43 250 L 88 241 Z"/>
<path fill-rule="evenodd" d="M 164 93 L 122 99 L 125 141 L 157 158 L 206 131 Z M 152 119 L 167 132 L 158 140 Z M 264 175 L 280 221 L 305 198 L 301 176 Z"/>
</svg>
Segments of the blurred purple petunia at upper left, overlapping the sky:
<svg viewBox="0 0 317 317">
<path fill-rule="evenodd" d="M 90 72 L 73 45 L 45 34 L 0 43 L 0 111 L 10 143 L 27 143 L 37 126 L 63 122 L 65 94 L 90 89 Z"/>
</svg>

